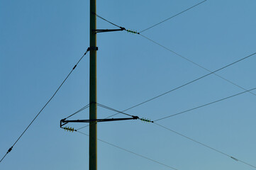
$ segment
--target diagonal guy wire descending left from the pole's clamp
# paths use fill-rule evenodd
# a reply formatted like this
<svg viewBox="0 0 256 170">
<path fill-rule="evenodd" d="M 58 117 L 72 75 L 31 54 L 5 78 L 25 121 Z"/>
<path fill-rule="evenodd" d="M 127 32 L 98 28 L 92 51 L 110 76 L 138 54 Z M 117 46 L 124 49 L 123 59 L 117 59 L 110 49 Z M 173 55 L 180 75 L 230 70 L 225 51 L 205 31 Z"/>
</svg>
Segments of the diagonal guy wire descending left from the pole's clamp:
<svg viewBox="0 0 256 170">
<path fill-rule="evenodd" d="M 87 52 L 89 51 L 89 48 L 87 49 L 86 52 L 84 52 L 84 55 L 82 55 L 82 57 L 78 60 L 77 64 L 79 64 L 79 62 L 82 60 L 82 58 L 87 55 Z M 67 78 L 70 76 L 70 74 L 72 74 L 72 72 L 74 71 L 74 69 L 77 67 L 77 64 L 74 65 L 73 69 L 69 72 L 69 74 L 67 74 L 67 77 L 64 79 L 64 81 L 62 81 L 62 83 L 60 84 L 60 86 L 57 88 L 57 90 L 55 91 L 55 93 L 52 95 L 52 97 L 48 100 L 47 103 L 45 103 L 45 106 L 43 106 L 43 108 L 41 108 L 41 110 L 38 112 L 37 115 L 35 115 L 35 118 L 33 118 L 33 120 L 30 122 L 30 124 L 27 126 L 27 128 L 21 133 L 21 135 L 18 137 L 18 139 L 16 140 L 16 142 L 14 142 L 14 144 L 9 148 L 8 152 L 6 152 L 6 154 L 9 154 L 9 152 L 11 152 L 11 149 L 13 149 L 13 147 L 16 145 L 16 143 L 18 142 L 18 140 L 21 139 L 21 137 L 24 135 L 24 133 L 28 130 L 28 128 L 30 127 L 30 125 L 32 125 L 32 123 L 35 121 L 36 118 L 38 118 L 38 115 L 40 115 L 40 113 L 43 111 L 43 109 L 48 105 L 48 103 L 50 103 L 50 101 L 52 100 L 52 98 L 55 96 L 55 94 L 57 94 L 57 91 L 60 90 L 61 86 L 65 83 L 65 81 L 67 80 Z M 4 157 L 6 157 L 6 154 L 4 155 Z M 1 159 L 0 163 L 3 161 L 4 157 Z"/>
</svg>

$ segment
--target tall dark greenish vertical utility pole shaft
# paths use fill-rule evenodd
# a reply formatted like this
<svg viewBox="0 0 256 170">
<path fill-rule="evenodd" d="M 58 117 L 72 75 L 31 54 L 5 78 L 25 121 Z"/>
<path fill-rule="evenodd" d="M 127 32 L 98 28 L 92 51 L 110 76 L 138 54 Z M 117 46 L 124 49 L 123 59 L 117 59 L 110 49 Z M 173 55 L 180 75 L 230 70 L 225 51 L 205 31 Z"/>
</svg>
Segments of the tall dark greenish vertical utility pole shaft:
<svg viewBox="0 0 256 170">
<path fill-rule="evenodd" d="M 96 98 L 96 0 L 90 0 L 90 119 L 97 118 Z M 89 170 L 97 169 L 97 124 L 89 123 Z"/>
</svg>

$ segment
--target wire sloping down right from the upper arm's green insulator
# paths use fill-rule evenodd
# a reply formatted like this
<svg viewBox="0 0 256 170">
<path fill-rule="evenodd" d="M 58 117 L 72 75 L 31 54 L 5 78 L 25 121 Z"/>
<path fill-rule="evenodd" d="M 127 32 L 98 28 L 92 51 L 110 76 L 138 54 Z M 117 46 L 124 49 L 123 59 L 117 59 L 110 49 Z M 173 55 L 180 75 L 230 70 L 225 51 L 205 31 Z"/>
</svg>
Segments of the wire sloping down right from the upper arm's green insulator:
<svg viewBox="0 0 256 170">
<path fill-rule="evenodd" d="M 141 34 L 140 34 L 140 35 L 141 35 Z M 184 57 L 183 55 L 180 55 L 179 53 L 174 52 L 173 50 L 171 50 L 171 49 L 165 47 L 164 45 L 161 45 L 160 43 L 155 42 L 155 40 L 152 40 L 152 39 L 146 37 L 145 35 L 141 35 L 141 36 L 143 36 L 143 38 L 146 38 L 147 40 L 150 40 L 151 42 L 154 42 L 156 45 L 159 45 L 160 47 L 165 48 L 165 50 L 168 50 L 169 52 L 172 52 L 172 53 L 174 53 L 175 55 L 177 55 L 177 56 L 179 56 L 179 57 L 182 57 L 184 60 L 187 60 L 188 62 L 191 62 L 192 64 L 195 64 L 196 66 L 200 67 L 201 69 L 204 69 L 204 70 L 206 70 L 207 72 L 211 72 L 211 70 L 206 69 L 206 67 L 203 67 L 203 66 L 201 66 L 200 64 L 197 64 L 196 62 L 193 62 L 192 60 L 189 60 L 187 57 Z M 218 75 L 218 74 L 216 74 L 216 73 L 213 73 L 213 74 L 216 75 L 217 77 L 220 77 L 221 79 L 223 79 L 223 80 L 225 80 L 225 81 L 228 81 L 230 84 L 233 84 L 234 86 L 237 86 L 238 88 L 243 89 L 244 91 L 247 91 L 247 89 L 243 88 L 242 86 L 239 86 L 238 84 L 235 84 L 234 82 L 232 82 L 232 81 L 230 81 L 230 80 L 228 80 L 228 79 L 226 79 L 226 78 L 224 78 L 224 77 L 221 77 L 220 75 Z M 249 93 L 256 96 L 256 94 L 252 93 L 252 91 L 249 91 Z"/>
</svg>

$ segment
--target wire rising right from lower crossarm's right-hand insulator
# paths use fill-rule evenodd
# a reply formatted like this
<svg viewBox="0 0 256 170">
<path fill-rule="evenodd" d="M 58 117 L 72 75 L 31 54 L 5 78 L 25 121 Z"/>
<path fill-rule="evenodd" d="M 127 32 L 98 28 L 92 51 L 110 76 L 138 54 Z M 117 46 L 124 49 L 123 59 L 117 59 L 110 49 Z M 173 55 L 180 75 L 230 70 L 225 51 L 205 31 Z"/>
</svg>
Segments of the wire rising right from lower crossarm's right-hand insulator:
<svg viewBox="0 0 256 170">
<path fill-rule="evenodd" d="M 212 102 L 210 102 L 210 103 L 206 103 L 206 104 L 204 104 L 204 105 L 197 106 L 197 107 L 195 107 L 195 108 L 190 108 L 190 109 L 188 109 L 187 111 L 182 111 L 182 112 L 179 112 L 179 113 L 175 113 L 175 114 L 173 114 L 173 115 L 168 115 L 168 116 L 165 116 L 164 118 L 159 118 L 159 119 L 157 119 L 157 120 L 154 120 L 154 122 L 159 121 L 159 120 L 163 120 L 163 119 L 166 119 L 166 118 L 170 118 L 170 117 L 173 117 L 173 116 L 175 116 L 175 115 L 180 115 L 180 114 L 183 114 L 183 113 L 187 113 L 187 112 L 189 112 L 189 111 L 193 111 L 193 110 L 196 110 L 197 108 L 202 108 L 202 107 L 204 107 L 204 106 L 208 106 L 208 105 L 211 105 L 211 104 L 213 104 L 213 103 L 218 103 L 219 101 L 224 101 L 224 100 L 226 100 L 226 99 L 228 99 L 228 98 L 233 98 L 233 97 L 235 97 L 235 96 L 238 96 L 238 95 L 240 95 L 240 94 L 245 94 L 246 92 L 248 92 L 248 91 L 253 91 L 253 90 L 255 90 L 255 89 L 256 89 L 256 87 L 253 88 L 253 89 L 247 90 L 247 91 L 243 91 L 243 92 L 241 92 L 241 93 L 239 93 L 239 94 L 234 94 L 234 95 L 228 96 L 228 97 L 226 97 L 226 98 L 221 98 L 221 99 L 219 99 L 219 100 L 217 100 L 217 101 L 212 101 Z"/>
</svg>

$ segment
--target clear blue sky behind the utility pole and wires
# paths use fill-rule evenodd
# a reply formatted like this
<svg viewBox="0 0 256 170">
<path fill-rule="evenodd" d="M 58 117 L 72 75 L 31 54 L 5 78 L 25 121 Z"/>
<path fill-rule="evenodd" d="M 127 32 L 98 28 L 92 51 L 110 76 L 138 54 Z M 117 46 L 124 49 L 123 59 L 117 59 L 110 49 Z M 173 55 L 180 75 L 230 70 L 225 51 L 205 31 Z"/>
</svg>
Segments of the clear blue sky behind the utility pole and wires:
<svg viewBox="0 0 256 170">
<path fill-rule="evenodd" d="M 97 13 L 119 26 L 140 31 L 199 2 L 98 0 Z M 256 52 L 255 6 L 253 0 L 208 0 L 142 34 L 214 71 Z M 100 18 L 97 27 L 115 28 Z M 117 110 L 208 74 L 140 35 L 99 33 L 97 43 L 98 102 Z M 89 0 L 0 1 L 1 157 L 87 47 Z M 256 55 L 217 74 L 252 89 L 256 87 L 255 64 Z M 156 120 L 243 91 L 212 74 L 127 113 Z M 255 101 L 255 95 L 241 94 L 157 123 L 256 166 Z M 0 169 L 89 169 L 89 138 L 59 127 L 62 118 L 88 103 L 89 54 L 1 162 Z M 98 110 L 98 118 L 111 114 Z M 89 118 L 89 111 L 76 118 Z M 88 134 L 89 130 L 81 131 Z M 179 170 L 254 169 L 140 120 L 99 123 L 98 137 Z M 98 169 L 169 168 L 99 141 Z"/>
</svg>

